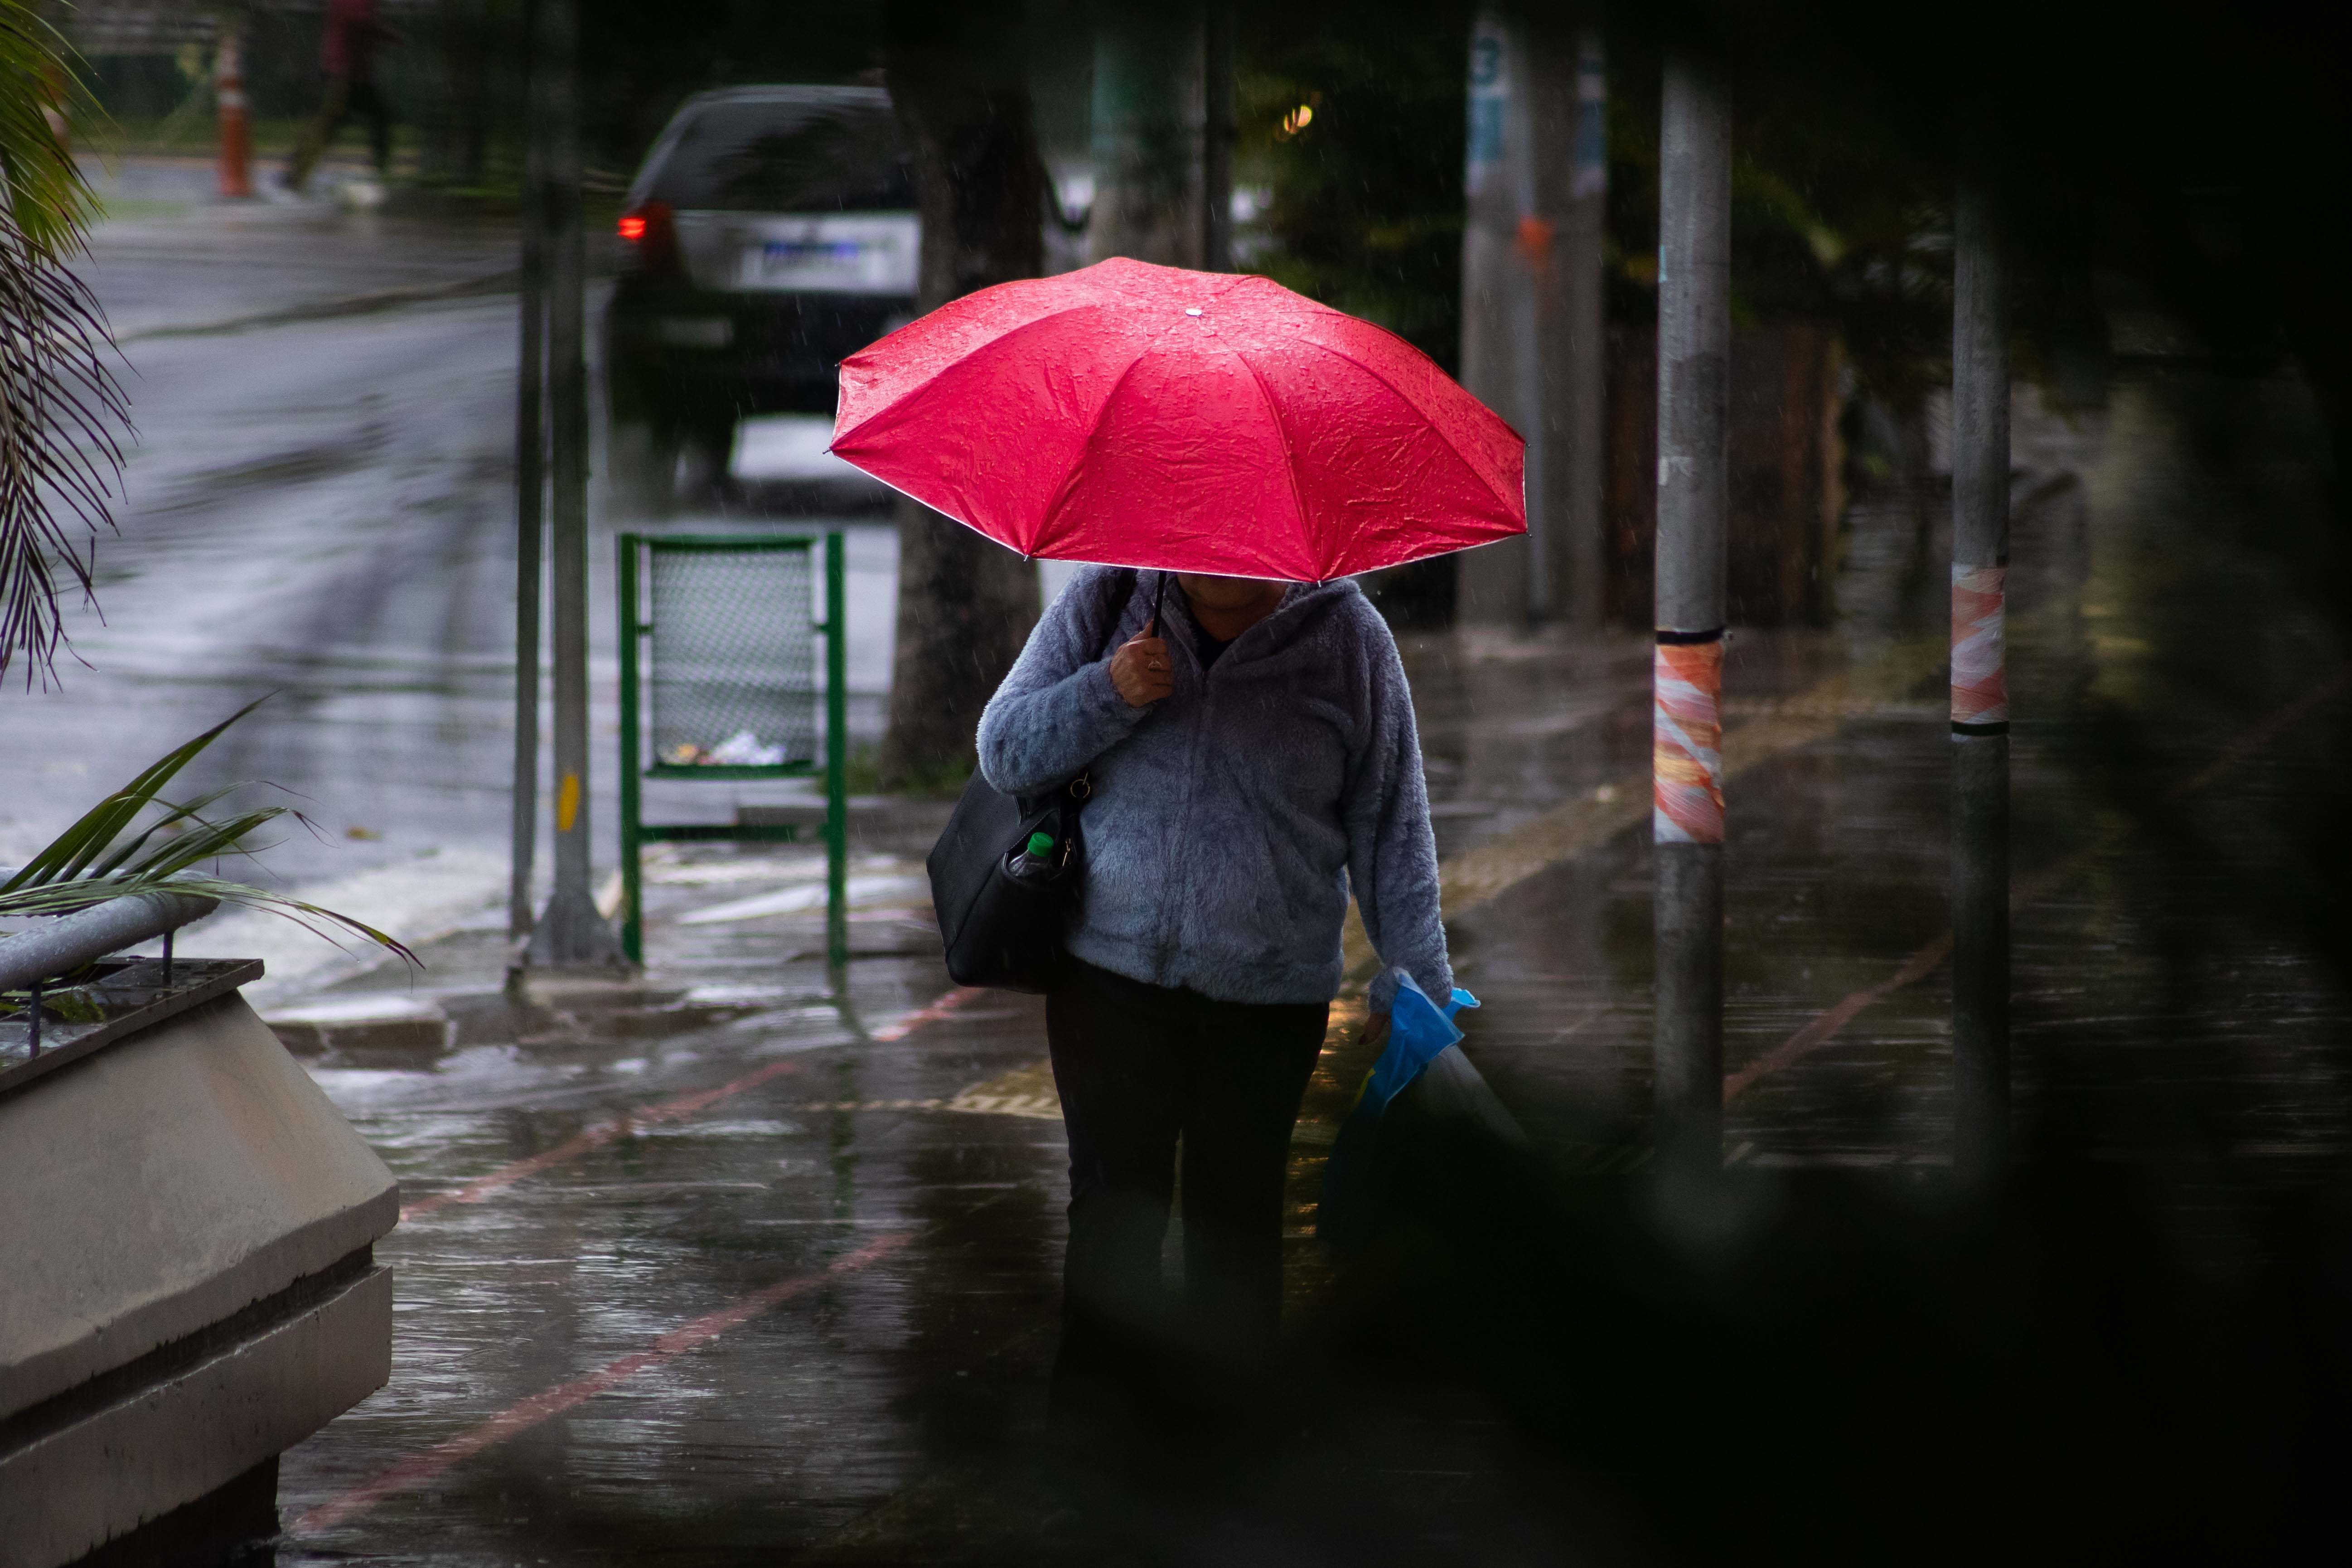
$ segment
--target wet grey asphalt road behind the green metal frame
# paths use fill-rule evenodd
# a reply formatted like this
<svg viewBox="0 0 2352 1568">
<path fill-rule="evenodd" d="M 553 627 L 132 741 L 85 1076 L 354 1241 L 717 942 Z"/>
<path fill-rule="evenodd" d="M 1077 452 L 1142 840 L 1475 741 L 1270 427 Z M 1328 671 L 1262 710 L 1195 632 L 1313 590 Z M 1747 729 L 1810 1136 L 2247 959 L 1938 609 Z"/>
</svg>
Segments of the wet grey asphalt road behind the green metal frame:
<svg viewBox="0 0 2352 1568">
<path fill-rule="evenodd" d="M 405 938 L 480 914 L 506 879 L 513 771 L 510 228 L 350 212 L 332 200 L 334 181 L 306 205 L 221 205 L 209 167 L 186 160 L 96 174 L 125 216 L 99 226 L 87 277 L 122 339 L 136 442 L 118 531 L 99 538 L 96 609 L 68 616 L 75 658 L 49 689 L 7 696 L 12 726 L 38 743 L 0 750 L 0 863 L 268 698 L 183 776 L 195 788 L 254 780 L 254 804 L 310 818 L 282 825 L 247 867 L 254 879 Z M 595 437 L 602 473 L 600 418 Z M 607 846 L 612 534 L 626 522 L 597 482 L 590 809 Z M 668 527 L 826 522 L 682 515 Z M 896 541 L 870 520 L 847 527 L 851 731 L 870 738 Z M 724 820 L 774 795 L 656 783 L 647 806 Z M 278 992 L 320 966 L 315 943 L 278 926 L 223 914 L 188 940 L 263 952 Z"/>
</svg>

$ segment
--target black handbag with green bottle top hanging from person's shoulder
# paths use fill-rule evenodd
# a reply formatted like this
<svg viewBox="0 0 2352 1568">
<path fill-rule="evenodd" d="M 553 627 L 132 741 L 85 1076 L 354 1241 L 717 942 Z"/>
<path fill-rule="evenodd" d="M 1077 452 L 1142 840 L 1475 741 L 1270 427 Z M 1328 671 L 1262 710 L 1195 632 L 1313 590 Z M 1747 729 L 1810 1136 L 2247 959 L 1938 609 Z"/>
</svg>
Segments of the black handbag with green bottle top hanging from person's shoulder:
<svg viewBox="0 0 2352 1568">
<path fill-rule="evenodd" d="M 1120 635 L 1134 592 L 1136 578 L 1129 574 L 1110 618 L 1112 637 Z M 1087 856 L 1077 818 L 1089 795 L 1091 773 L 1018 797 L 993 788 L 978 771 L 971 773 L 948 830 L 924 860 L 938 940 L 957 985 L 1014 992 L 1044 992 L 1054 985 Z M 1040 832 L 1054 839 L 1042 865 L 1025 853 Z"/>
</svg>

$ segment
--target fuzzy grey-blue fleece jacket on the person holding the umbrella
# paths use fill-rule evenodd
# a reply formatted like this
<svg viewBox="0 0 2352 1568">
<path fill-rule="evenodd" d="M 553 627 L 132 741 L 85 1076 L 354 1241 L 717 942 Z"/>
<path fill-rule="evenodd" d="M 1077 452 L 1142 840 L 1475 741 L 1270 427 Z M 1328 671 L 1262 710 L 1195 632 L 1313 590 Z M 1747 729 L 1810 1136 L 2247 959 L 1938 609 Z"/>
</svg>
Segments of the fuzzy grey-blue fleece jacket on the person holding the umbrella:
<svg viewBox="0 0 2352 1568">
<path fill-rule="evenodd" d="M 1404 663 L 1352 581 L 1294 585 L 1202 672 L 1183 588 L 1162 597 L 1176 691 L 1129 708 L 1110 654 L 1152 616 L 1157 571 L 1082 569 L 981 715 L 1009 795 L 1094 769 L 1068 945 L 1087 964 L 1218 1001 L 1329 1001 L 1348 891 L 1385 969 L 1454 987 L 1437 842 Z"/>
</svg>

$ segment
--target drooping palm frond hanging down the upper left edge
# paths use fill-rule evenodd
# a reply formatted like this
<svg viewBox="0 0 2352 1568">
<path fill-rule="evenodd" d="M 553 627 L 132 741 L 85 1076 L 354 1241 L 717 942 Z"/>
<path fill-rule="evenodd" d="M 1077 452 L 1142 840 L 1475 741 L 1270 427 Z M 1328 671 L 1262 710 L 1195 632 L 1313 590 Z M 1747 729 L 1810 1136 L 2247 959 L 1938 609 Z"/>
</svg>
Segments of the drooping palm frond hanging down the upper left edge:
<svg viewBox="0 0 2352 1568">
<path fill-rule="evenodd" d="M 75 277 L 96 197 L 49 125 L 87 92 L 26 0 L 0 0 L 0 677 L 31 686 L 66 646 L 64 592 L 92 602 L 129 404 L 96 294 Z"/>
</svg>

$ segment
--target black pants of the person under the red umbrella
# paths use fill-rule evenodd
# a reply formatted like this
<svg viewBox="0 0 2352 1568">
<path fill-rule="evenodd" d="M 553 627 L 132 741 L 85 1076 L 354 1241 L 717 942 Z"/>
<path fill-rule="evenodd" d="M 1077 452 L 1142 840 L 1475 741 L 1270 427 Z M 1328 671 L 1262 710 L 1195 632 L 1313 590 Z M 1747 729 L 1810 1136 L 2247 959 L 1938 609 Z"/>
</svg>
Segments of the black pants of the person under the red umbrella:
<svg viewBox="0 0 2352 1568">
<path fill-rule="evenodd" d="M 1054 1427 L 1164 1432 L 1258 1387 L 1282 1328 L 1282 1180 L 1329 1004 L 1254 1006 L 1070 961 L 1047 997 L 1070 1133 Z M 1183 1295 L 1160 1246 L 1183 1138 Z M 1174 1309 L 1171 1309 L 1174 1307 Z"/>
</svg>

